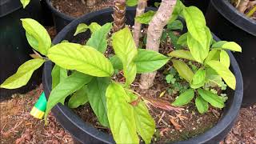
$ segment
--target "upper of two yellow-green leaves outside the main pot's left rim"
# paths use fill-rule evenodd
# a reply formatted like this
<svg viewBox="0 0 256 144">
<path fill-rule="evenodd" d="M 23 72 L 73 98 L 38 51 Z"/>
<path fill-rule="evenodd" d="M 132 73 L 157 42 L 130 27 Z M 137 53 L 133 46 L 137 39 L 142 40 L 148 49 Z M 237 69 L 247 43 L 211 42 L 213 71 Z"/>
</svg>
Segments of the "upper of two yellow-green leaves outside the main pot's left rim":
<svg viewBox="0 0 256 144">
<path fill-rule="evenodd" d="M 26 38 L 30 46 L 43 55 L 51 46 L 50 36 L 47 30 L 37 21 L 31 18 L 22 18 L 22 26 L 26 30 Z"/>
</svg>

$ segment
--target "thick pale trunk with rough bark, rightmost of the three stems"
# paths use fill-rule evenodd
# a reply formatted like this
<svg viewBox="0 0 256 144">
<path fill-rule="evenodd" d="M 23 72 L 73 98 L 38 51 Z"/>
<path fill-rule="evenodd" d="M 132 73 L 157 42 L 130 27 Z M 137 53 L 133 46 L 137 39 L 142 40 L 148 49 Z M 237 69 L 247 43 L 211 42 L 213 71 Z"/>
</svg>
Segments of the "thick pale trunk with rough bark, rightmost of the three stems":
<svg viewBox="0 0 256 144">
<path fill-rule="evenodd" d="M 174 6 L 176 5 L 176 0 L 162 0 L 161 5 L 158 8 L 156 14 L 152 18 L 146 39 L 146 49 L 147 50 L 159 50 L 160 38 L 162 36 L 162 30 L 169 21 L 171 14 L 173 13 Z M 149 89 L 153 86 L 154 78 L 157 72 L 142 74 L 140 87 L 142 89 Z"/>
</svg>

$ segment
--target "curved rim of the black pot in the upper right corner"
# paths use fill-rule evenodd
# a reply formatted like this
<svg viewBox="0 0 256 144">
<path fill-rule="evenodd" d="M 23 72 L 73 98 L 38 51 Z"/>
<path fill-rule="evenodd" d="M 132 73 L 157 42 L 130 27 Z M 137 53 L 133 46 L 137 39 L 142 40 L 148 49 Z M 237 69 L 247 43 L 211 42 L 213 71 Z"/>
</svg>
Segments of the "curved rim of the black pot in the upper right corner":
<svg viewBox="0 0 256 144">
<path fill-rule="evenodd" d="M 211 0 L 211 4 L 216 10 L 226 19 L 228 19 L 234 26 L 245 30 L 247 33 L 256 36 L 256 20 L 246 17 L 245 14 L 240 13 L 227 0 Z"/>
</svg>

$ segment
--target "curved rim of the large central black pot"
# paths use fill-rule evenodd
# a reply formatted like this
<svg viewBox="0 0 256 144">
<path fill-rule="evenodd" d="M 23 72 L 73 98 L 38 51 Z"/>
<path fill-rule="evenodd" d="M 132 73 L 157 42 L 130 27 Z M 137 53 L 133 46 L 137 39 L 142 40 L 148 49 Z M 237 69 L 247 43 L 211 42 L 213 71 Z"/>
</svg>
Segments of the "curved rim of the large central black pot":
<svg viewBox="0 0 256 144">
<path fill-rule="evenodd" d="M 126 10 L 135 10 L 135 8 L 127 8 Z M 58 33 L 58 35 L 54 38 L 53 43 L 56 44 L 58 42 L 61 42 L 63 35 L 66 35 L 70 31 L 70 29 L 72 28 L 74 29 L 74 26 L 78 26 L 78 24 L 82 22 L 83 19 L 94 18 L 94 16 L 96 15 L 109 13 L 109 12 L 113 12 L 113 10 L 110 8 L 107 8 L 104 10 L 98 10 L 93 13 L 86 14 L 81 18 L 77 18 L 73 22 L 70 22 L 69 25 L 67 25 L 64 29 L 62 29 L 62 31 Z M 215 40 L 219 40 L 216 36 L 214 36 L 214 38 Z M 236 89 L 234 90 L 234 95 L 233 95 L 234 98 L 233 98 L 233 101 L 230 102 L 230 109 L 228 110 L 224 109 L 226 110 L 226 115 L 224 115 L 220 119 L 220 121 L 210 130 L 207 130 L 205 133 L 199 134 L 194 138 L 190 138 L 187 141 L 176 142 L 176 143 L 205 143 L 210 139 L 214 139 L 219 134 L 222 134 L 222 132 L 224 132 L 225 130 L 227 129 L 230 130 L 229 126 L 234 123 L 234 120 L 238 115 L 238 111 L 242 103 L 243 85 L 242 85 L 242 74 L 239 69 L 238 63 L 236 62 L 233 54 L 231 54 L 230 51 L 228 51 L 228 54 L 230 55 L 231 66 L 234 70 L 234 75 L 237 80 L 237 86 L 236 86 Z M 52 66 L 52 62 L 46 62 L 44 66 L 44 71 L 43 71 L 43 82 L 45 83 L 44 90 L 48 94 L 50 93 L 50 90 L 51 90 L 51 83 L 49 82 L 50 81 L 49 78 L 51 79 L 51 75 L 50 75 L 51 66 Z M 91 137 L 97 138 L 98 140 L 102 140 L 102 142 L 114 143 L 113 138 L 109 134 L 102 133 L 101 131 L 95 129 L 90 124 L 83 122 L 82 119 L 79 118 L 78 115 L 74 114 L 74 112 L 72 112 L 72 110 L 70 110 L 67 106 L 58 104 L 57 106 L 54 106 L 54 110 L 58 110 L 58 114 L 61 111 L 62 116 L 66 117 L 70 122 L 72 122 L 74 126 L 78 126 L 78 128 L 82 130 L 84 133 L 90 134 Z M 72 135 L 74 136 L 74 138 L 77 138 L 79 140 L 79 138 L 76 135 L 74 134 Z"/>
</svg>

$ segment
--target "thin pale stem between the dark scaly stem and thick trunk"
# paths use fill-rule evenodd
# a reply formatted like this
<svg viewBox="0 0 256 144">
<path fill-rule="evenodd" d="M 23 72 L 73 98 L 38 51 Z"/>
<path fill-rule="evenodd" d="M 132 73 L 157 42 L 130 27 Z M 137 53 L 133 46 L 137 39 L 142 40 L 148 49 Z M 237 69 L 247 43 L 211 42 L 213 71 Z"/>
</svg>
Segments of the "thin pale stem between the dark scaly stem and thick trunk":
<svg viewBox="0 0 256 144">
<path fill-rule="evenodd" d="M 138 6 L 136 9 L 136 17 L 144 13 L 145 7 L 146 7 L 146 0 L 139 0 Z M 142 29 L 142 24 L 139 22 L 135 22 L 134 23 L 134 42 L 135 42 L 135 46 L 137 47 L 139 44 L 141 29 Z"/>
</svg>

